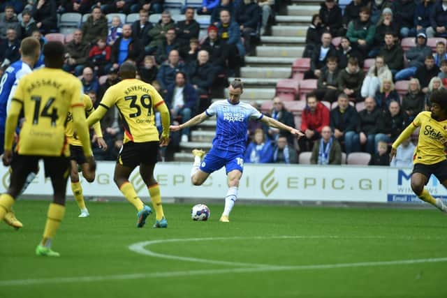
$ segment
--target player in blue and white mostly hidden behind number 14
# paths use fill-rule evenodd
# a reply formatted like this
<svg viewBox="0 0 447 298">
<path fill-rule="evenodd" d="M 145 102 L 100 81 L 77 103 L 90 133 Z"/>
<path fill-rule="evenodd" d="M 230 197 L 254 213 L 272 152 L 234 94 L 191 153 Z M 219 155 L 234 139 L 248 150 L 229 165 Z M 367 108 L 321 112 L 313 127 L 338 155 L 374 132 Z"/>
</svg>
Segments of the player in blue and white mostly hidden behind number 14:
<svg viewBox="0 0 447 298">
<path fill-rule="evenodd" d="M 8 107 L 10 101 L 13 97 L 15 88 L 17 87 L 17 82 L 24 75 L 31 73 L 34 64 L 38 61 L 41 54 L 41 45 L 36 42 L 35 38 L 28 37 L 22 40 L 20 43 L 20 53 L 22 55 L 21 59 L 15 61 L 8 68 L 6 68 L 5 73 L 0 80 L 0 154 L 3 154 L 3 145 L 5 139 L 5 123 L 6 116 L 8 114 Z M 38 169 L 35 173 L 31 172 L 27 177 L 27 182 L 22 188 L 22 191 L 31 183 L 31 181 L 36 177 Z M 4 218 L 4 221 L 11 225 L 13 228 L 22 228 L 22 223 L 15 218 L 13 211 L 8 212 Z"/>
</svg>

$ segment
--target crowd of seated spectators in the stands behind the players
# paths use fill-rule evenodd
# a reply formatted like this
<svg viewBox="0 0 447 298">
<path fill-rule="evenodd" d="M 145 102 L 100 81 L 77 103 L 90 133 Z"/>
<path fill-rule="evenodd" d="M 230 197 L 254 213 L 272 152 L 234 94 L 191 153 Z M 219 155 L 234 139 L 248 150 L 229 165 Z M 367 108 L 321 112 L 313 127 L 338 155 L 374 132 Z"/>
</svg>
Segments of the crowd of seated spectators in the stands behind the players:
<svg viewBox="0 0 447 298">
<path fill-rule="evenodd" d="M 199 8 L 184 7 L 176 21 L 163 0 L 1 1 L 0 72 L 20 59 L 22 38 L 34 36 L 43 46 L 58 32 L 58 15 L 88 15 L 65 36 L 64 70 L 80 78 L 94 105 L 119 82 L 119 66 L 132 61 L 138 77 L 159 90 L 173 121 L 184 122 L 221 94 L 228 77 L 240 75 L 256 37 L 268 33 L 274 13 L 285 2 L 203 0 Z M 138 18 L 125 22 L 117 15 L 109 20 L 113 13 L 138 13 Z M 160 19 L 149 22 L 154 13 Z M 210 17 L 203 38 L 196 15 Z M 409 38 L 411 44 L 404 45 Z M 430 38 L 438 40 L 428 44 Z M 370 164 L 388 165 L 383 156 L 390 143 L 418 112 L 430 109 L 430 94 L 447 85 L 444 38 L 446 0 L 353 0 L 344 10 L 334 0 L 323 1 L 312 17 L 303 53 L 310 60 L 303 78 L 317 80 L 317 88 L 307 94 L 300 115 L 288 111 L 281 96 L 272 99 L 268 111 L 300 128 L 305 137 L 298 142 L 251 123 L 246 162 L 297 163 L 298 155 L 308 151 L 312 163 L 339 164 L 343 152 L 364 151 L 372 156 Z M 42 64 L 40 59 L 35 67 Z M 408 82 L 404 94 L 395 88 L 402 80 Z M 123 133 L 116 109 L 108 111 L 102 127 L 110 149 L 94 153 L 98 160 L 114 159 Z M 189 130 L 173 135 L 173 151 L 189 137 Z M 411 142 L 401 147 L 397 156 L 408 157 L 404 151 Z"/>
</svg>

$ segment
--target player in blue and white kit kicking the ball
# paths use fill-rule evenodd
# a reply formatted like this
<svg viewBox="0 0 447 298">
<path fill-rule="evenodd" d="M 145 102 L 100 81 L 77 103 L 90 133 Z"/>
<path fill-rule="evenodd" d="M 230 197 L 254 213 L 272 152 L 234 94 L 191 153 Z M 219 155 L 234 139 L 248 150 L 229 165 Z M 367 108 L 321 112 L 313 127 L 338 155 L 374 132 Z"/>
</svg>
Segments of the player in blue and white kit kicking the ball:
<svg viewBox="0 0 447 298">
<path fill-rule="evenodd" d="M 229 222 L 231 209 L 237 200 L 237 188 L 244 169 L 244 151 L 247 143 L 249 119 L 263 121 L 264 124 L 289 131 L 292 135 L 302 137 L 297 129 L 286 126 L 281 122 L 263 115 L 248 103 L 240 102 L 240 95 L 244 87 L 240 79 L 235 79 L 228 87 L 228 99 L 212 103 L 202 114 L 198 114 L 184 124 L 170 126 L 171 131 L 195 126 L 206 119 L 216 116 L 216 137 L 212 141 L 212 148 L 202 161 L 204 151 L 194 149 L 194 164 L 191 170 L 191 181 L 194 185 L 202 185 L 214 171 L 225 166 L 228 176 L 228 192 L 225 197 L 225 207 L 219 221 Z"/>
</svg>

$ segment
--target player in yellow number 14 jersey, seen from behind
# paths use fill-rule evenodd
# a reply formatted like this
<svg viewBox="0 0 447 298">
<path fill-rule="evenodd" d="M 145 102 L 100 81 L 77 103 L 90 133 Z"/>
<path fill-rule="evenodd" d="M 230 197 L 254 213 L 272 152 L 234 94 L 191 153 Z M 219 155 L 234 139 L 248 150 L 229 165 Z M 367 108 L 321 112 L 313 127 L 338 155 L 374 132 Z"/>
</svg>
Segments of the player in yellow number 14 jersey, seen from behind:
<svg viewBox="0 0 447 298">
<path fill-rule="evenodd" d="M 36 40 L 36 43 L 38 41 Z M 43 47 L 45 68 L 20 79 L 6 119 L 3 164 L 11 165 L 7 193 L 0 195 L 0 219 L 10 210 L 22 189 L 29 172 L 35 170 L 40 159 L 45 165 L 45 176 L 50 177 L 54 190 L 53 202 L 47 211 L 43 239 L 36 247 L 37 255 L 59 256 L 51 243 L 65 213 L 65 195 L 70 162 L 65 137 L 65 122 L 70 107 L 82 149 L 94 170 L 90 156 L 89 132 L 85 121 L 80 81 L 64 72 L 65 47 L 60 42 L 48 42 Z M 17 119 L 23 111 L 24 122 L 13 156 L 13 137 Z"/>
</svg>

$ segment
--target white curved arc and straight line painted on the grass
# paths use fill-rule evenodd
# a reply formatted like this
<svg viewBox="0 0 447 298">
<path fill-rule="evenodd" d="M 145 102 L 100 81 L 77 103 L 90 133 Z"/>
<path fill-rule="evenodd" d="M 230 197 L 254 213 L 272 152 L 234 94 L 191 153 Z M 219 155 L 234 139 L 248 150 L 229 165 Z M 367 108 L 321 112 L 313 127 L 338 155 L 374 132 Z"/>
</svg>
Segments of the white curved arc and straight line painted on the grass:
<svg viewBox="0 0 447 298">
<path fill-rule="evenodd" d="M 255 272 L 269 272 L 269 271 L 302 271 L 302 270 L 320 270 L 320 269 L 337 269 L 337 268 L 351 268 L 351 267 L 379 267 L 379 266 L 395 266 L 395 265 L 413 265 L 423 263 L 437 263 L 447 262 L 447 258 L 426 258 L 413 260 L 391 260 L 378 262 L 352 262 L 352 263 L 338 263 L 338 264 L 322 264 L 322 265 L 298 265 L 298 266 L 273 266 L 261 265 L 241 262 L 226 262 L 219 260 L 205 260 L 199 258 L 188 258 L 176 255 L 163 255 L 149 251 L 146 246 L 161 243 L 175 243 L 181 241 L 212 241 L 212 240 L 244 240 L 244 239 L 386 239 L 387 237 L 338 237 L 338 236 L 277 236 L 277 237 L 214 237 L 201 239 L 166 239 L 143 241 L 129 246 L 131 251 L 142 253 L 143 255 L 151 255 L 156 258 L 166 258 L 171 260 L 184 260 L 189 262 L 207 262 L 208 264 L 216 265 L 232 265 L 240 268 L 228 269 L 203 269 L 203 270 L 185 270 L 185 271 L 160 271 L 150 273 L 137 274 L 115 274 L 105 276 L 69 276 L 57 278 L 29 278 L 29 279 L 13 279 L 0 281 L 0 287 L 20 286 L 20 285 L 43 285 L 43 284 L 59 284 L 59 283 L 92 283 L 97 281 L 126 281 L 135 279 L 147 278 L 175 278 L 187 276 L 201 276 L 210 274 L 237 274 L 237 273 L 255 273 Z M 397 237 L 398 239 L 433 239 L 432 237 Z M 396 237 L 393 237 L 396 239 Z M 143 253 L 145 251 L 145 253 Z"/>
</svg>

